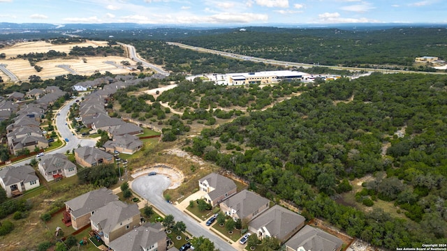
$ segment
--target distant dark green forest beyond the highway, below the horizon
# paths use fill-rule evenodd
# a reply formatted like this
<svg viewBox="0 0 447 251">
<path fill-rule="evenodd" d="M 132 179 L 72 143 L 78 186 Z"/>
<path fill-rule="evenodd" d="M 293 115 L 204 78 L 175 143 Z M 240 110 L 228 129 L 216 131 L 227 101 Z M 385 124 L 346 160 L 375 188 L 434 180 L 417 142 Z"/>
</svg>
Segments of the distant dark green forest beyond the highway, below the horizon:
<svg viewBox="0 0 447 251">
<path fill-rule="evenodd" d="M 330 66 L 413 66 L 416 56 L 447 59 L 446 31 L 438 28 L 393 28 L 376 31 L 341 29 L 234 29 L 191 36 L 179 43 L 212 50 Z"/>
</svg>

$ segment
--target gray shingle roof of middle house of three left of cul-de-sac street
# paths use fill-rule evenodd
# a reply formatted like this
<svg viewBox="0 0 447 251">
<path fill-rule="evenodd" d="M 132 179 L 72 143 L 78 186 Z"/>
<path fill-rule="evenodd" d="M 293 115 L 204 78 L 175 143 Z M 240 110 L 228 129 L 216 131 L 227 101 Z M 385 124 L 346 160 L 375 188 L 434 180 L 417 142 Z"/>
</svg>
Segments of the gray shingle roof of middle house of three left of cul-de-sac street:
<svg viewBox="0 0 447 251">
<path fill-rule="evenodd" d="M 122 201 L 112 201 L 91 215 L 90 220 L 101 226 L 104 234 L 110 232 L 126 219 L 140 215 L 137 204 L 124 204 Z"/>
</svg>

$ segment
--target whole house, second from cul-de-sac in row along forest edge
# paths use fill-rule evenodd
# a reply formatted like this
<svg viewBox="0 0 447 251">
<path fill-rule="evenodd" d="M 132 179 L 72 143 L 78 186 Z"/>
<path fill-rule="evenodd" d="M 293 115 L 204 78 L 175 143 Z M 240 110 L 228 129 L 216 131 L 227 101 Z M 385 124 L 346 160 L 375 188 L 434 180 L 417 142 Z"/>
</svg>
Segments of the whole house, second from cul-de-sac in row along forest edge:
<svg viewBox="0 0 447 251">
<path fill-rule="evenodd" d="M 269 207 L 270 200 L 265 199 L 254 192 L 242 190 L 232 197 L 221 202 L 220 207 L 226 215 L 233 220 L 252 220 Z"/>
</svg>

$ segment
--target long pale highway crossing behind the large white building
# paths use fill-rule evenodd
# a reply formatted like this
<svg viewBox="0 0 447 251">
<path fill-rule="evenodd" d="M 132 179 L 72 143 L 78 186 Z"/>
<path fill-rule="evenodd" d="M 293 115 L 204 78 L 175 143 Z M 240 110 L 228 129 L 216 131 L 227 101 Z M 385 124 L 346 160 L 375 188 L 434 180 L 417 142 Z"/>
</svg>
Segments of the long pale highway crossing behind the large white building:
<svg viewBox="0 0 447 251">
<path fill-rule="evenodd" d="M 349 71 L 368 71 L 368 72 L 380 72 L 380 73 L 422 73 L 422 74 L 447 74 L 447 73 L 430 73 L 430 72 L 421 72 L 421 71 L 413 71 L 413 70 L 390 70 L 390 69 L 376 69 L 376 68 L 358 68 L 358 67 L 345 67 L 345 66 L 323 66 L 323 65 L 314 65 L 312 63 L 296 63 L 296 62 L 289 62 L 289 61 L 279 61 L 274 59 L 262 59 L 254 56 L 246 56 L 242 54 L 235 54 L 230 52 L 221 52 L 218 50 L 211 50 L 207 48 L 202 47 L 196 47 L 191 45 L 184 45 L 182 43 L 173 43 L 173 42 L 166 42 L 168 45 L 176 45 L 178 47 L 188 49 L 188 50 L 196 50 L 198 52 L 206 52 L 206 53 L 212 53 L 212 54 L 218 54 L 221 56 L 230 57 L 233 59 L 239 59 L 239 60 L 246 60 L 246 61 L 254 61 L 257 63 L 270 63 L 272 65 L 277 66 L 284 66 L 284 67 L 302 67 L 302 68 L 311 68 L 314 66 L 318 67 L 326 67 L 334 70 L 349 70 Z"/>
</svg>

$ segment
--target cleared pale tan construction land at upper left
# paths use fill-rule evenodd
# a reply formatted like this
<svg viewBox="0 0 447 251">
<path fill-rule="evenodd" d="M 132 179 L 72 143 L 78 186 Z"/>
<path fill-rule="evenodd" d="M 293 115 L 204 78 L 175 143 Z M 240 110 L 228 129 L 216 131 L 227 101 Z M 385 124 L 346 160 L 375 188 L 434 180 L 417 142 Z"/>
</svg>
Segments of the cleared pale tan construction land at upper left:
<svg viewBox="0 0 447 251">
<path fill-rule="evenodd" d="M 18 43 L 11 47 L 0 50 L 0 54 L 6 55 L 5 59 L 0 60 L 0 64 L 6 65 L 21 81 L 27 81 L 30 75 L 38 75 L 42 79 L 50 79 L 64 74 L 92 75 L 94 73 L 127 74 L 133 71 L 132 67 L 136 67 L 135 61 L 124 56 L 66 56 L 60 59 L 50 59 L 38 61 L 36 66 L 42 68 L 41 72 L 37 72 L 26 59 L 17 59 L 18 54 L 28 54 L 31 52 L 43 53 L 50 50 L 57 52 L 65 52 L 68 54 L 75 46 L 78 47 L 98 47 L 108 46 L 105 41 L 87 40 L 85 43 L 70 43 L 64 45 L 53 45 L 44 41 Z M 85 60 L 84 60 L 85 59 Z M 123 67 L 121 61 L 129 61 L 131 66 Z M 60 67 L 64 66 L 64 68 Z M 71 71 L 70 71 L 71 70 Z M 0 71 L 0 77 L 8 81 L 9 77 Z"/>
</svg>

